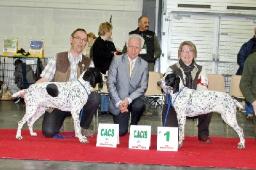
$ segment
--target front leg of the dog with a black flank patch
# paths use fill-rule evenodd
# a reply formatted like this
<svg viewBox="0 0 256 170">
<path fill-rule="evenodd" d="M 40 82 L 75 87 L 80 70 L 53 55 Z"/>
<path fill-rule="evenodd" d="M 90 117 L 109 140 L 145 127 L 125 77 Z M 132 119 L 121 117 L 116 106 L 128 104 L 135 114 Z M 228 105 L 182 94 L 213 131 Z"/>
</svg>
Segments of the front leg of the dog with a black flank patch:
<svg viewBox="0 0 256 170">
<path fill-rule="evenodd" d="M 74 120 L 74 129 L 75 129 L 76 137 L 79 139 L 79 141 L 81 143 L 89 143 L 89 141 L 87 140 L 86 136 L 83 136 L 81 134 L 79 113 L 80 113 L 80 110 L 77 110 L 77 108 L 76 108 L 76 110 L 72 109 L 72 111 L 71 111 L 71 115 L 72 115 L 72 118 Z"/>
</svg>

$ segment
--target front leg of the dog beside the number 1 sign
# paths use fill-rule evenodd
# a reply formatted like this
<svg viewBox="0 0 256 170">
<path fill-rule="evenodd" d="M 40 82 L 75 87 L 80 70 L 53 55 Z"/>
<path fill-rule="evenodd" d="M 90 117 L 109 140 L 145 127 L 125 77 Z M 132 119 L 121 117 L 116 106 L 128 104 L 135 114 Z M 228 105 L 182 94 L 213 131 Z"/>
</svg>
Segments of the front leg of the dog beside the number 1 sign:
<svg viewBox="0 0 256 170">
<path fill-rule="evenodd" d="M 180 110 L 176 112 L 177 112 L 177 119 L 178 119 L 178 125 L 179 125 L 178 147 L 180 148 L 185 138 L 186 112 L 180 111 Z"/>
</svg>

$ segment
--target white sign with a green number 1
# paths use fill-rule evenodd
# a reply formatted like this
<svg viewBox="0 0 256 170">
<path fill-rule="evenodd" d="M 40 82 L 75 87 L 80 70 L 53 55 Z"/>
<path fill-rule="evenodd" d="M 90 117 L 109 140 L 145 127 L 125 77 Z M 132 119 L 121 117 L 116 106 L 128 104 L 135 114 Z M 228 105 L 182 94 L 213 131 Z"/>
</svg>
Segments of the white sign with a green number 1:
<svg viewBox="0 0 256 170">
<path fill-rule="evenodd" d="M 178 127 L 157 127 L 157 150 L 178 151 Z"/>
</svg>

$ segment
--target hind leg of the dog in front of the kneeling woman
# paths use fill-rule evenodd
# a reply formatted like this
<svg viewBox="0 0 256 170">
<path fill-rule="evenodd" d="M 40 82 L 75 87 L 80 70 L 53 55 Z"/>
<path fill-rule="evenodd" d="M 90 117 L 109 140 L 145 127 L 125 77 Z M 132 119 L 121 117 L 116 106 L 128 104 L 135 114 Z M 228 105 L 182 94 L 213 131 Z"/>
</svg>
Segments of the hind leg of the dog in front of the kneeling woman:
<svg viewBox="0 0 256 170">
<path fill-rule="evenodd" d="M 236 109 L 233 111 L 226 111 L 225 116 L 223 113 L 221 113 L 221 117 L 223 118 L 224 122 L 226 124 L 230 125 L 234 129 L 234 131 L 237 132 L 237 135 L 240 138 L 240 142 L 237 144 L 238 149 L 244 149 L 245 148 L 245 139 L 244 139 L 244 132 L 241 127 L 237 124 L 236 119 Z"/>
</svg>

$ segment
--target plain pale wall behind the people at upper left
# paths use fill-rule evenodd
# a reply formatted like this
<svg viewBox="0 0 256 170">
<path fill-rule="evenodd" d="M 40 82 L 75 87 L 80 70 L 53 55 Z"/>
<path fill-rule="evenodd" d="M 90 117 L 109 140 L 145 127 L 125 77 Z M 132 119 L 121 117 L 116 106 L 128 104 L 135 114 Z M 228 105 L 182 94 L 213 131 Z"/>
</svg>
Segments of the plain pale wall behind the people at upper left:
<svg viewBox="0 0 256 170">
<path fill-rule="evenodd" d="M 130 31 L 138 27 L 140 1 L 0 0 L 0 46 L 3 36 L 19 38 L 19 49 L 28 51 L 29 39 L 44 38 L 45 57 L 70 48 L 70 34 L 77 28 L 93 32 L 112 15 L 113 42 L 122 49 Z M 1 54 L 1 53 L 0 53 Z"/>
</svg>

